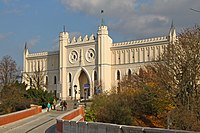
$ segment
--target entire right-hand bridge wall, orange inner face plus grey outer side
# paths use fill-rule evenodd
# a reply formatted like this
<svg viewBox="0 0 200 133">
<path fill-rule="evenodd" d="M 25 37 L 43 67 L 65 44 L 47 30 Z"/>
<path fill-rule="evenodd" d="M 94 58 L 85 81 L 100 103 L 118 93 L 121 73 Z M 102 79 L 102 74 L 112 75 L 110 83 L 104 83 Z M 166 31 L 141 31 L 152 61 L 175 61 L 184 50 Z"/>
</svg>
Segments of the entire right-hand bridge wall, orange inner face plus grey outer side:
<svg viewBox="0 0 200 133">
<path fill-rule="evenodd" d="M 84 108 L 57 117 L 57 133 L 195 133 L 192 131 L 136 127 L 100 122 L 84 122 Z"/>
</svg>

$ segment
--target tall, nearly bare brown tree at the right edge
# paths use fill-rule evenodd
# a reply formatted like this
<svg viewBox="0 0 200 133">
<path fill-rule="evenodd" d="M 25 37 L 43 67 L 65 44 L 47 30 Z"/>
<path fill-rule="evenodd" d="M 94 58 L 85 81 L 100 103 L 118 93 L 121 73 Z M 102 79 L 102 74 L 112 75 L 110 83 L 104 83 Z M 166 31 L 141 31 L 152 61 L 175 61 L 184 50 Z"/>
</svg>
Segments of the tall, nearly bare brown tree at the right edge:
<svg viewBox="0 0 200 133">
<path fill-rule="evenodd" d="M 200 130 L 196 128 L 200 127 L 200 27 L 183 30 L 165 49 L 161 61 L 152 66 L 176 107 L 169 112 L 170 127 Z"/>
</svg>

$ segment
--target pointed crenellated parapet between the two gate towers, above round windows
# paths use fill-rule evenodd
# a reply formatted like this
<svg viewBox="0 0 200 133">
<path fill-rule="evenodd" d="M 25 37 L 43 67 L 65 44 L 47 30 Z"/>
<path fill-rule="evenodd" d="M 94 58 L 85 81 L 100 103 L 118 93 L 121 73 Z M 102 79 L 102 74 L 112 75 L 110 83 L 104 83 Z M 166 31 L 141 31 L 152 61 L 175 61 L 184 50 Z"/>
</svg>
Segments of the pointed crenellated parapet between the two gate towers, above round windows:
<svg viewBox="0 0 200 133">
<path fill-rule="evenodd" d="M 79 36 L 78 38 L 73 37 L 69 44 L 88 43 L 94 41 L 95 41 L 95 36 L 92 34 L 90 37 L 88 37 L 88 35 L 85 35 L 84 38 L 82 38 L 82 36 Z"/>
</svg>

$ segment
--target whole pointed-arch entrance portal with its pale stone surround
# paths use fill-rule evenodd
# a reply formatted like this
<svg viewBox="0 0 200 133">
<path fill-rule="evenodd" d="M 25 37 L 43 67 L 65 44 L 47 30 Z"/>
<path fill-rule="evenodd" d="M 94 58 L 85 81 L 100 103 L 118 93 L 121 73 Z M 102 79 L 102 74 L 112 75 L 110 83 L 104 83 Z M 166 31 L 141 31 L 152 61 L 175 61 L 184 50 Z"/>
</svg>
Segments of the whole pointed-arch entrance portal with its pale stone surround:
<svg viewBox="0 0 200 133">
<path fill-rule="evenodd" d="M 76 90 L 73 88 L 73 98 L 88 99 L 91 93 L 91 78 L 85 68 L 80 68 L 75 74 L 73 86 L 76 85 Z M 77 93 L 75 93 L 77 92 Z"/>
</svg>

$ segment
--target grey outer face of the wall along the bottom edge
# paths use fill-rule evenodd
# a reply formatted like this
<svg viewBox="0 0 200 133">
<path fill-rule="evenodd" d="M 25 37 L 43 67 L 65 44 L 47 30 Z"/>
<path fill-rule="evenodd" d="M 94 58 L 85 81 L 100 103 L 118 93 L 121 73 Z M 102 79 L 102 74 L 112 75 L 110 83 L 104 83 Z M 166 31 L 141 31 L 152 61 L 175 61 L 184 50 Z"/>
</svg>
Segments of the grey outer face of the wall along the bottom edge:
<svg viewBox="0 0 200 133">
<path fill-rule="evenodd" d="M 63 121 L 62 133 L 195 133 L 192 131 L 135 127 L 99 122 Z"/>
</svg>

